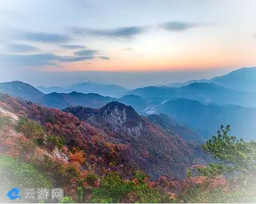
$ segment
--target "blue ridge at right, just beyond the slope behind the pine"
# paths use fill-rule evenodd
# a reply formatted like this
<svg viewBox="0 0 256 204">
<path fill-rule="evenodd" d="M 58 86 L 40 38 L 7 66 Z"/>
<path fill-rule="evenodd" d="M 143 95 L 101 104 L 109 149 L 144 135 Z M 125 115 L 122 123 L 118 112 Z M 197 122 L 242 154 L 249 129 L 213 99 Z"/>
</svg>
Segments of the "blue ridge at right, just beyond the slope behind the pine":
<svg viewBox="0 0 256 204">
<path fill-rule="evenodd" d="M 130 93 L 149 101 L 185 98 L 204 104 L 233 104 L 256 108 L 256 93 L 233 90 L 214 83 L 192 83 L 179 88 L 147 86 Z"/>
</svg>

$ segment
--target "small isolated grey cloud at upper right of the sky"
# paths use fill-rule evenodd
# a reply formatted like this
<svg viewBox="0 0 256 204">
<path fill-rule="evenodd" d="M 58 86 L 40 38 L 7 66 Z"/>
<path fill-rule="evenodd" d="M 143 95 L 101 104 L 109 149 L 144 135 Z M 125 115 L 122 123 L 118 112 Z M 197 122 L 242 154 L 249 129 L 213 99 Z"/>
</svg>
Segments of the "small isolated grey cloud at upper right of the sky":
<svg viewBox="0 0 256 204">
<path fill-rule="evenodd" d="M 181 32 L 191 28 L 199 27 L 200 24 L 194 24 L 189 22 L 182 22 L 182 21 L 173 21 L 173 22 L 166 22 L 160 24 L 160 28 L 163 28 L 168 31 L 176 31 Z"/>
</svg>

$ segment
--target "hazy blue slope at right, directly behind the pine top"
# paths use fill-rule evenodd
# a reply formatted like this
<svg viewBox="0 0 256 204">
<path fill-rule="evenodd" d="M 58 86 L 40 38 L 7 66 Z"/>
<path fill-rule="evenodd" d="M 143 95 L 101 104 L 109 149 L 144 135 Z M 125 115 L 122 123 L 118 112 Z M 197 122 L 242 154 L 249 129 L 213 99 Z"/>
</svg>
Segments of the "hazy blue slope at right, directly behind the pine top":
<svg viewBox="0 0 256 204">
<path fill-rule="evenodd" d="M 255 139 L 256 109 L 237 105 L 205 105 L 195 100 L 174 99 L 157 106 L 156 113 L 171 115 L 176 120 L 200 131 L 206 138 L 220 125 L 231 125 L 232 133 L 244 139 Z"/>
</svg>

